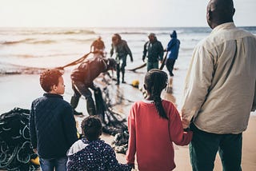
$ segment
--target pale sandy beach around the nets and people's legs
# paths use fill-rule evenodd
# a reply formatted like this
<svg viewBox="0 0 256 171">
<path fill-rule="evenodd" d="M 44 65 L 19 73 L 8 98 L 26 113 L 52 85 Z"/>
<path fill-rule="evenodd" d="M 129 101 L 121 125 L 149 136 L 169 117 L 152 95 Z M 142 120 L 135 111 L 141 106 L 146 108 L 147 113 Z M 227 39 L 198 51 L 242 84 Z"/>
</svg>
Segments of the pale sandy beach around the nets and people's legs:
<svg viewBox="0 0 256 171">
<path fill-rule="evenodd" d="M 132 80 L 136 78 L 139 80 L 140 86 L 142 86 L 142 75 L 143 74 L 129 74 L 129 76 L 126 77 L 126 82 L 132 82 Z M 70 85 L 69 71 L 67 71 L 63 76 L 66 84 L 66 92 L 63 97 L 66 101 L 70 101 L 70 97 L 73 91 Z M 10 111 L 10 109 L 14 109 L 14 107 L 30 109 L 31 101 L 33 101 L 37 97 L 42 96 L 43 93 L 39 85 L 38 79 L 39 76 L 37 74 L 0 75 L 0 89 L 2 95 L 0 101 L 0 113 L 6 113 Z M 101 82 L 100 79 L 102 78 L 99 78 L 98 82 Z M 110 82 L 109 85 L 112 102 L 116 104 L 114 106 L 114 110 L 116 110 L 118 113 L 123 113 L 123 117 L 126 117 L 132 102 L 142 99 L 142 92 L 129 84 L 121 84 L 119 85 L 119 87 L 114 84 L 115 82 L 113 81 Z M 174 97 L 172 93 L 167 93 L 167 91 L 176 91 L 176 93 L 174 94 L 179 94 L 177 93 L 177 91 L 180 91 L 180 89 L 182 89 L 182 86 L 178 85 L 181 84 L 182 77 L 174 77 L 174 79 L 171 80 L 171 82 L 169 83 L 168 89 L 166 89 L 166 91 L 162 93 L 162 97 L 167 100 L 173 101 L 174 104 L 178 105 L 177 101 L 178 99 L 180 99 L 180 97 Z M 123 100 L 120 101 L 120 99 Z M 86 117 L 86 101 L 84 100 L 84 98 L 81 98 L 81 100 L 79 101 L 78 111 L 83 112 L 85 114 L 84 117 Z M 82 121 L 82 118 L 83 117 L 76 117 L 78 130 L 80 130 L 80 122 Z M 109 144 L 111 144 L 113 138 L 113 136 L 107 134 L 102 135 L 102 139 Z M 255 114 L 252 114 L 250 117 L 248 129 L 243 133 L 242 169 L 245 171 L 256 170 L 256 145 L 254 141 L 256 141 L 256 116 Z M 174 149 L 174 159 L 176 163 L 176 169 L 174 170 L 191 170 L 188 146 L 174 145 Z M 120 161 L 121 163 L 126 163 L 125 155 L 117 153 L 117 157 L 118 161 Z M 214 170 L 222 170 L 222 164 L 218 156 L 217 160 L 215 161 Z"/>
</svg>

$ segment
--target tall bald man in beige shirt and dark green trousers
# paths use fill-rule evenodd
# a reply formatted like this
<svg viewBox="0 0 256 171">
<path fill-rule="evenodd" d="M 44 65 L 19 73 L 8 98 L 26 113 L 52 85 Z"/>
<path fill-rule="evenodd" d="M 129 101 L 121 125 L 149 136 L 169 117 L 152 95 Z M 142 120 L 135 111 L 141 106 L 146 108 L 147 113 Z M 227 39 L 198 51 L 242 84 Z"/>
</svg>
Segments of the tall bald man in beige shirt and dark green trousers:
<svg viewBox="0 0 256 171">
<path fill-rule="evenodd" d="M 242 132 L 256 109 L 256 38 L 234 25 L 234 12 L 232 0 L 210 0 L 213 30 L 195 47 L 187 71 L 182 117 L 194 132 L 194 171 L 214 170 L 217 153 L 223 170 L 242 170 Z"/>
</svg>

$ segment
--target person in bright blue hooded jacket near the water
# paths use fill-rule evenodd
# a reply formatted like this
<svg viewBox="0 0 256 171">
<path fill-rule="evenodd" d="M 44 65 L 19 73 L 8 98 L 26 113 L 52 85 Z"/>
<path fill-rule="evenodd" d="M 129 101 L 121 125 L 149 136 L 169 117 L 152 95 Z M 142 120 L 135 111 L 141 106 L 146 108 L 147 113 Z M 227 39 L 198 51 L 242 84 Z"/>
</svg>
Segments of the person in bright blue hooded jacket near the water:
<svg viewBox="0 0 256 171">
<path fill-rule="evenodd" d="M 169 71 L 170 77 L 174 76 L 174 63 L 178 58 L 178 50 L 180 41 L 177 38 L 177 33 L 174 30 L 172 34 L 170 34 L 170 42 L 167 45 L 166 51 L 169 52 L 169 55 L 166 59 L 166 68 Z"/>
</svg>

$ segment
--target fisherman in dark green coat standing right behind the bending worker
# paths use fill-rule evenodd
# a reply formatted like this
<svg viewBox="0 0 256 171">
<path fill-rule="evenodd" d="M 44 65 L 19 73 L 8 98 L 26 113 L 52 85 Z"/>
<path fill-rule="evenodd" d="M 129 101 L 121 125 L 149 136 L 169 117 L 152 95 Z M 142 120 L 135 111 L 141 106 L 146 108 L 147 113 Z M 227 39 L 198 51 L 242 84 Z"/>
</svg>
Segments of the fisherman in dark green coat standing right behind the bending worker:
<svg viewBox="0 0 256 171">
<path fill-rule="evenodd" d="M 122 40 L 119 34 L 114 34 L 112 37 L 112 44 L 110 50 L 110 56 L 114 58 L 117 62 L 117 84 L 119 85 L 120 81 L 120 71 L 122 72 L 122 83 L 125 83 L 125 67 L 126 67 L 126 58 L 129 54 L 130 62 L 133 62 L 133 54 L 130 51 L 129 46 L 125 40 Z"/>
</svg>

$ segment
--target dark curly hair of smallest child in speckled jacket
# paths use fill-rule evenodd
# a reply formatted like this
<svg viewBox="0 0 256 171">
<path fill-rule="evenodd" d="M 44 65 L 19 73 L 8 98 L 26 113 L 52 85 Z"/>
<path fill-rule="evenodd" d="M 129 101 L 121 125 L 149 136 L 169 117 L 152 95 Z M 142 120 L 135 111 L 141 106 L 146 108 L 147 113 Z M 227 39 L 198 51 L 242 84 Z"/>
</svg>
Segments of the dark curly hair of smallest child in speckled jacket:
<svg viewBox="0 0 256 171">
<path fill-rule="evenodd" d="M 102 121 L 97 116 L 86 117 L 81 123 L 81 129 L 87 140 L 98 140 L 102 134 Z"/>
</svg>

